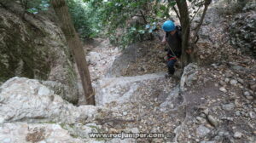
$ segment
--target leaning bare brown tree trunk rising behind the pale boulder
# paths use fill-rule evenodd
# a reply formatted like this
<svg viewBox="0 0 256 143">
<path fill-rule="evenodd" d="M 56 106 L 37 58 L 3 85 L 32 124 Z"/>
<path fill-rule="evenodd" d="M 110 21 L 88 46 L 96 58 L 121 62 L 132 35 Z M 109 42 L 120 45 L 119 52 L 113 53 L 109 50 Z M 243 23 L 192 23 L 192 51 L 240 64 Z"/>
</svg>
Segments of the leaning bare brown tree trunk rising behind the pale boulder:
<svg viewBox="0 0 256 143">
<path fill-rule="evenodd" d="M 51 0 L 55 13 L 61 23 L 61 30 L 67 39 L 67 45 L 73 50 L 74 59 L 79 68 L 79 75 L 82 80 L 86 103 L 95 105 L 94 90 L 91 86 L 90 73 L 85 60 L 84 49 L 76 33 L 65 0 Z"/>
</svg>

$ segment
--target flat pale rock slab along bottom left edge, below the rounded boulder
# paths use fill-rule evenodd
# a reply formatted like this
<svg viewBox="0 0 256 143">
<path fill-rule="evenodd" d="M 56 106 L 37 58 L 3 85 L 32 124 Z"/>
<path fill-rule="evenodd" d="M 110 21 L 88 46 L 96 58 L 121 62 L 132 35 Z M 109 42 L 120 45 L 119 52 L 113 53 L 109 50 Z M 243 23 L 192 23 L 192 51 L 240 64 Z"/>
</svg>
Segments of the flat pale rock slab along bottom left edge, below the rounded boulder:
<svg viewBox="0 0 256 143">
<path fill-rule="evenodd" d="M 94 123 L 70 126 L 59 123 L 3 123 L 0 125 L 1 143 L 104 143 L 104 142 L 134 142 L 135 139 L 106 139 L 90 138 L 90 133 L 99 133 L 101 127 Z"/>
</svg>

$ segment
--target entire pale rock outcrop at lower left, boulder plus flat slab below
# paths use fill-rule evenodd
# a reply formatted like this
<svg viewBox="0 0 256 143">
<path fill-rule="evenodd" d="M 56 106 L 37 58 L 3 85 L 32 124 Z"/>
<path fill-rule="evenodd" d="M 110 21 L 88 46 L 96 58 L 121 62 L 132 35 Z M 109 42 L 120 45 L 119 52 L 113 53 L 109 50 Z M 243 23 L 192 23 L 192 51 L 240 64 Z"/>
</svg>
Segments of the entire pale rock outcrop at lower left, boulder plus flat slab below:
<svg viewBox="0 0 256 143">
<path fill-rule="evenodd" d="M 90 133 L 108 132 L 91 123 L 104 118 L 98 112 L 104 109 L 73 106 L 38 80 L 13 77 L 0 87 L 0 142 L 135 142 L 90 138 Z"/>
</svg>

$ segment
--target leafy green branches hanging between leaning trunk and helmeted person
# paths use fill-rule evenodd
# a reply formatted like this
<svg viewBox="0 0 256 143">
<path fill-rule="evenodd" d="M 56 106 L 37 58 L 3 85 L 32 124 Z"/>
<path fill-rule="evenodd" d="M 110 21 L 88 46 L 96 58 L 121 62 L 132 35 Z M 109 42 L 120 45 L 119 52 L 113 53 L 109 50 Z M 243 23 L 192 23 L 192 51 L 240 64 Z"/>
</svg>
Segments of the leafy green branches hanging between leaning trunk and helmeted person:
<svg viewBox="0 0 256 143">
<path fill-rule="evenodd" d="M 155 0 L 84 0 L 98 10 L 103 27 L 112 43 L 124 48 L 142 41 L 158 29 L 162 20 L 169 20 L 169 11 L 176 4 Z"/>
</svg>

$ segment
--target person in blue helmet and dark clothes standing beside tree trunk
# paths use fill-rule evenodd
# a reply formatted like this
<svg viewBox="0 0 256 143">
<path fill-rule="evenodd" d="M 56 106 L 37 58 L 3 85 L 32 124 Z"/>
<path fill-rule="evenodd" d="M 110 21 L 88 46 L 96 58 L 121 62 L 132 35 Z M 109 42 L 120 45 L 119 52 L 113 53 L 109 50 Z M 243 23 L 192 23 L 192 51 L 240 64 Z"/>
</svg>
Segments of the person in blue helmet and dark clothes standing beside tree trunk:
<svg viewBox="0 0 256 143">
<path fill-rule="evenodd" d="M 175 72 L 174 65 L 177 58 L 180 58 L 182 54 L 182 32 L 180 26 L 175 26 L 172 20 L 166 20 L 162 29 L 166 31 L 165 37 L 162 39 L 163 44 L 167 43 L 165 59 L 167 60 L 168 74 L 166 74 L 166 77 L 172 77 Z"/>
</svg>

